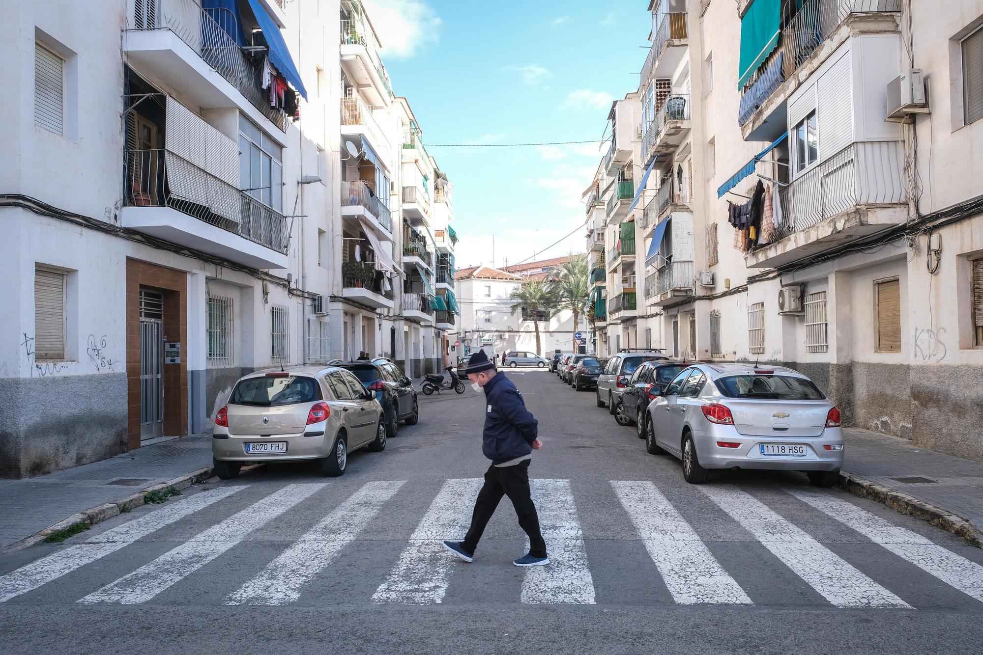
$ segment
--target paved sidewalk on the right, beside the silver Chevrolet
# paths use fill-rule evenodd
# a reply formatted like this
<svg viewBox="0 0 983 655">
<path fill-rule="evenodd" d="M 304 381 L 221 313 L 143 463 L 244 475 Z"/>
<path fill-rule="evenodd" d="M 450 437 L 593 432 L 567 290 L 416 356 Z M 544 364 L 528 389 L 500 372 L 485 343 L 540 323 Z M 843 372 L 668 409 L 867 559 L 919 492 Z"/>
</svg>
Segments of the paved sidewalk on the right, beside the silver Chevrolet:
<svg viewBox="0 0 983 655">
<path fill-rule="evenodd" d="M 983 463 L 917 448 L 905 439 L 878 432 L 845 428 L 843 433 L 846 442 L 843 473 L 874 483 L 869 491 L 863 488 L 867 485 L 862 482 L 847 483 L 851 491 L 871 497 L 897 492 L 965 519 L 977 532 L 983 530 Z M 937 522 L 931 512 L 923 512 L 917 506 L 900 507 L 905 505 L 903 499 L 878 500 L 899 512 Z"/>
</svg>

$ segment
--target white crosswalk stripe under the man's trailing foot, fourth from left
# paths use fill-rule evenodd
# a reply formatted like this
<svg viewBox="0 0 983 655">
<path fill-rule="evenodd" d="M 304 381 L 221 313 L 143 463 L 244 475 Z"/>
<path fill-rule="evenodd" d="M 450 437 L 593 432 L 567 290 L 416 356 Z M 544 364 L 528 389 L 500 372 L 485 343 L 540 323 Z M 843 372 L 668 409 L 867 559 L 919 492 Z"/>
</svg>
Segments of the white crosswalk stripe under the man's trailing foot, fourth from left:
<svg viewBox="0 0 983 655">
<path fill-rule="evenodd" d="M 450 568 L 458 560 L 440 542 L 464 538 L 483 483 L 480 477 L 443 483 L 396 566 L 373 594 L 376 603 L 425 605 L 443 600 Z"/>
</svg>

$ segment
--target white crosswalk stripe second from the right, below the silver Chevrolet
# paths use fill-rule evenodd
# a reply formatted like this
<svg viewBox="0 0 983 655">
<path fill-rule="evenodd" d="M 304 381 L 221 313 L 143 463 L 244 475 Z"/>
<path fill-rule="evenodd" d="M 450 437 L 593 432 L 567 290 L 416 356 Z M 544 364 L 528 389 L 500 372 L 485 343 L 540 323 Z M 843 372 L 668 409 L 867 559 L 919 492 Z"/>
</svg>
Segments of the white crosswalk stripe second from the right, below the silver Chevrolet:
<svg viewBox="0 0 983 655">
<path fill-rule="evenodd" d="M 697 488 L 834 605 L 911 607 L 750 494 L 731 485 Z"/>
</svg>

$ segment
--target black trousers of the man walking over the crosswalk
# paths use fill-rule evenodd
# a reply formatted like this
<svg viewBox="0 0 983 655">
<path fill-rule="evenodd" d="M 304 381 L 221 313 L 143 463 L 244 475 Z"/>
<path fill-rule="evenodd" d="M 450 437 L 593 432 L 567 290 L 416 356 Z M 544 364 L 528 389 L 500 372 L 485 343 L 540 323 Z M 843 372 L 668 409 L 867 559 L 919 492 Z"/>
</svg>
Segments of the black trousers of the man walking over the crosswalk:
<svg viewBox="0 0 983 655">
<path fill-rule="evenodd" d="M 532 492 L 529 489 L 530 460 L 513 466 L 495 466 L 492 464 L 485 472 L 485 485 L 478 492 L 475 501 L 475 512 L 471 516 L 471 527 L 461 542 L 461 546 L 469 553 L 474 553 L 478 541 L 485 532 L 485 526 L 492 519 L 498 501 L 502 496 L 508 496 L 519 518 L 519 525 L 529 535 L 529 553 L 534 557 L 547 556 L 547 542 L 540 532 L 540 518 L 533 505 Z"/>
</svg>

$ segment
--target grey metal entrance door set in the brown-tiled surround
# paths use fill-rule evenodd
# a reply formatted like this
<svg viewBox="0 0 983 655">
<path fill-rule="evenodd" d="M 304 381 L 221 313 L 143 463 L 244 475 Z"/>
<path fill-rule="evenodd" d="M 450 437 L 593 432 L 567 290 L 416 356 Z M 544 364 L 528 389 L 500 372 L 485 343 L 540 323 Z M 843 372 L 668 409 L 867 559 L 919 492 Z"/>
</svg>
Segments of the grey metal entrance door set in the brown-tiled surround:
<svg viewBox="0 0 983 655">
<path fill-rule="evenodd" d="M 164 436 L 164 296 L 140 290 L 140 440 Z"/>
</svg>

